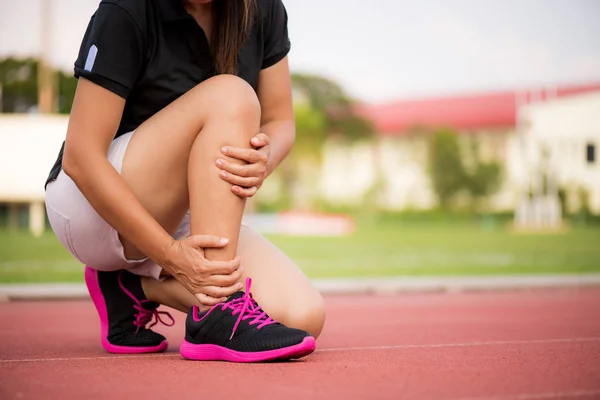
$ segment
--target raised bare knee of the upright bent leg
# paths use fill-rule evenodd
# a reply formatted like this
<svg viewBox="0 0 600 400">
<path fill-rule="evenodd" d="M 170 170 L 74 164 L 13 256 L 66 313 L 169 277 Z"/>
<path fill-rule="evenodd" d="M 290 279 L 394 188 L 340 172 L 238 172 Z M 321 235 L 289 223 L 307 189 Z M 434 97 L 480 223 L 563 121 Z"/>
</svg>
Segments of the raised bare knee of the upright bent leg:
<svg viewBox="0 0 600 400">
<path fill-rule="evenodd" d="M 217 75 L 200 85 L 210 89 L 210 102 L 216 118 L 244 119 L 260 123 L 260 102 L 245 80 L 235 75 Z M 199 85 L 199 86 L 200 86 Z"/>
</svg>

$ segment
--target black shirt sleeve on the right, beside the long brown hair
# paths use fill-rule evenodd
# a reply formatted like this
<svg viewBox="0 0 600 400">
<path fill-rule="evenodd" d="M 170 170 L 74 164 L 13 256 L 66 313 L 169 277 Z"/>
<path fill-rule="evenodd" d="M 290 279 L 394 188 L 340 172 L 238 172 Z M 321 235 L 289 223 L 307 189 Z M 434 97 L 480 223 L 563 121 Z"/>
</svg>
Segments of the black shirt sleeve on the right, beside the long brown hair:
<svg viewBox="0 0 600 400">
<path fill-rule="evenodd" d="M 264 56 L 261 69 L 269 68 L 281 61 L 290 51 L 288 18 L 281 0 L 271 0 L 267 11 L 264 30 Z"/>
</svg>

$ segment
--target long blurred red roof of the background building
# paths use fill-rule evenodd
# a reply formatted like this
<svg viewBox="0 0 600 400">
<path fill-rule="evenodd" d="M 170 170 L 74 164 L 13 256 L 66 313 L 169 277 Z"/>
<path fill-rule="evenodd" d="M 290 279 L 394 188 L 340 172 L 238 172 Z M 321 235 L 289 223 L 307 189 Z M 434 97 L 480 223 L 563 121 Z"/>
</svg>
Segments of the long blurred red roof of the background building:
<svg viewBox="0 0 600 400">
<path fill-rule="evenodd" d="M 377 132 L 386 136 L 400 135 L 414 127 L 448 126 L 459 130 L 506 128 L 515 125 L 517 101 L 530 103 L 595 90 L 600 90 L 600 83 L 559 86 L 553 90 L 400 100 L 361 105 L 358 111 L 373 123 Z"/>
</svg>

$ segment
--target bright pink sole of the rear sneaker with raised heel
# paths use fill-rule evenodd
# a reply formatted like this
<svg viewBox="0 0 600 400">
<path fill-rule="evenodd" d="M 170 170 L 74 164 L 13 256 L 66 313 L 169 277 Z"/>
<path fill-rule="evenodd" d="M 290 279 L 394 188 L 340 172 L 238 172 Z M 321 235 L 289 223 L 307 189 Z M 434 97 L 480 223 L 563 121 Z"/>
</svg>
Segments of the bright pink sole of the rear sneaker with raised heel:
<svg viewBox="0 0 600 400">
<path fill-rule="evenodd" d="M 88 288 L 88 292 L 90 292 L 90 296 L 94 305 L 96 306 L 96 311 L 98 311 L 98 316 L 100 317 L 100 332 L 102 339 L 102 347 L 104 350 L 109 353 L 114 354 L 140 354 L 140 353 L 160 353 L 165 351 L 167 347 L 169 347 L 169 343 L 166 340 L 163 340 L 157 346 L 117 346 L 111 344 L 108 339 L 108 312 L 106 311 L 106 302 L 104 301 L 104 295 L 100 290 L 100 283 L 98 282 L 98 271 L 90 268 L 88 266 L 85 267 L 85 284 Z"/>
</svg>

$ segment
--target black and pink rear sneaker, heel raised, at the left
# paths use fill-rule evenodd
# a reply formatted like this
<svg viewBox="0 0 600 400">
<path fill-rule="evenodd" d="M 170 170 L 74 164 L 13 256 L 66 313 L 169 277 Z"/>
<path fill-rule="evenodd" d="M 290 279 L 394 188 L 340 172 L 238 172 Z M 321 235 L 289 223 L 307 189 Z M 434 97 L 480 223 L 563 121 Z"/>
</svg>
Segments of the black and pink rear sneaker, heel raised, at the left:
<svg viewBox="0 0 600 400">
<path fill-rule="evenodd" d="M 104 272 L 86 266 L 85 283 L 100 316 L 102 347 L 106 351 L 137 354 L 167 349 L 165 337 L 148 328 L 158 322 L 171 326 L 175 321 L 169 313 L 157 310 L 158 303 L 146 299 L 139 276 L 125 270 Z M 164 322 L 161 315 L 171 322 Z M 146 328 L 153 317 L 154 322 Z"/>
</svg>

